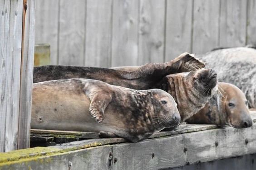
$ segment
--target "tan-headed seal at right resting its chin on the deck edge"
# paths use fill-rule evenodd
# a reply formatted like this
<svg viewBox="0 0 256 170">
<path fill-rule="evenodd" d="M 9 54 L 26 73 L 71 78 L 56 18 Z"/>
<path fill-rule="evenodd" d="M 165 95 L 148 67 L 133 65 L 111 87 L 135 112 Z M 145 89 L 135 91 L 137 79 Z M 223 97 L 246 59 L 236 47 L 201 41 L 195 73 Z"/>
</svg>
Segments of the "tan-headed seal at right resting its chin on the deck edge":
<svg viewBox="0 0 256 170">
<path fill-rule="evenodd" d="M 245 94 L 229 83 L 219 83 L 218 89 L 205 107 L 186 122 L 217 124 L 220 127 L 251 127 L 252 119 Z"/>
</svg>

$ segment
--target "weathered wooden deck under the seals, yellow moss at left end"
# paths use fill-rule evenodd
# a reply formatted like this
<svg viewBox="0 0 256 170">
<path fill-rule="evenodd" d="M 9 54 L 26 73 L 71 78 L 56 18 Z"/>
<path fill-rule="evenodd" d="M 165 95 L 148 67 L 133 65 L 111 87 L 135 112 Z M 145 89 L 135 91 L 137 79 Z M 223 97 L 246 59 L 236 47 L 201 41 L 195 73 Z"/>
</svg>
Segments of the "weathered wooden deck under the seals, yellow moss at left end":
<svg viewBox="0 0 256 170">
<path fill-rule="evenodd" d="M 256 121 L 256 112 L 251 112 Z M 256 153 L 256 123 L 250 128 L 220 129 L 185 124 L 130 143 L 123 138 L 98 138 L 98 133 L 31 130 L 33 137 L 78 141 L 0 153 L 0 170 L 13 169 L 166 169 Z M 94 138 L 81 140 L 84 138 Z M 79 141 L 81 140 L 81 141 Z M 56 144 L 56 143 L 55 143 Z"/>
</svg>

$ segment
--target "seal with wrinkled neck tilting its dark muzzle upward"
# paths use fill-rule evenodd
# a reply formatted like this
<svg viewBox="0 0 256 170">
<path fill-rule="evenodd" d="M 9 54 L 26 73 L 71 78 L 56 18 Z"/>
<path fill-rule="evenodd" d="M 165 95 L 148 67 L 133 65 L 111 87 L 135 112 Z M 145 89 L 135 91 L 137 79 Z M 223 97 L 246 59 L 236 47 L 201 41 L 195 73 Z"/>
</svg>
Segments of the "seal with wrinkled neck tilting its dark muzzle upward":
<svg viewBox="0 0 256 170">
<path fill-rule="evenodd" d="M 113 67 L 126 71 L 137 68 L 138 66 Z M 172 95 L 177 103 L 181 120 L 185 121 L 200 111 L 217 92 L 217 73 L 214 69 L 195 68 L 195 71 L 165 76 L 157 88 Z"/>
</svg>

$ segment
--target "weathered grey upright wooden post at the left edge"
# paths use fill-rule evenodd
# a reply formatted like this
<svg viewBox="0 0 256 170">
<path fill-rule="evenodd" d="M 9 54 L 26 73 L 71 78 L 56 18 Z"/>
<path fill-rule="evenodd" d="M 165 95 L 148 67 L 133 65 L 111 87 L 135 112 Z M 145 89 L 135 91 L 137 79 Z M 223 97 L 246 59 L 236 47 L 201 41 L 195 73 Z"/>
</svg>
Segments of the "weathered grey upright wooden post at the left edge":
<svg viewBox="0 0 256 170">
<path fill-rule="evenodd" d="M 24 2 L 23 17 L 23 0 L 0 1 L 0 152 L 29 147 L 34 0 Z"/>
</svg>

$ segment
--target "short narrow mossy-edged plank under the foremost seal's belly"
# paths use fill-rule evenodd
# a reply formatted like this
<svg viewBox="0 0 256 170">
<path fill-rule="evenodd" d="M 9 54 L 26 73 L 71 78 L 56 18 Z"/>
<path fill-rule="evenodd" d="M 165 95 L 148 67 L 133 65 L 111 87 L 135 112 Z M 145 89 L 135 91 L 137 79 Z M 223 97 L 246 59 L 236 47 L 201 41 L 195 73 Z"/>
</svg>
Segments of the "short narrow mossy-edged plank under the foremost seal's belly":
<svg viewBox="0 0 256 170">
<path fill-rule="evenodd" d="M 42 129 L 31 129 L 31 136 L 42 136 L 42 137 L 78 137 L 96 139 L 99 138 L 99 133 L 93 132 L 74 132 L 74 131 L 56 131 L 56 130 L 42 130 Z"/>
</svg>

